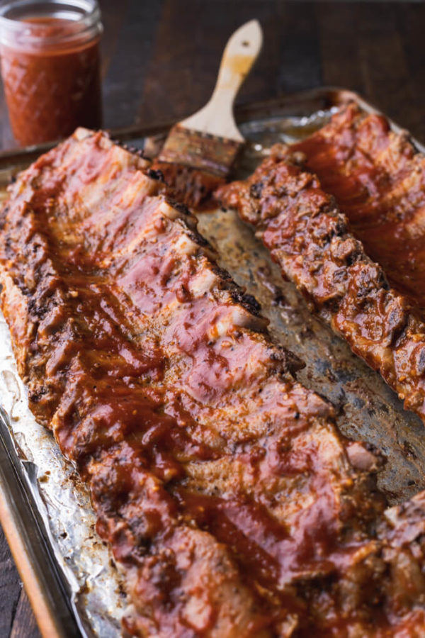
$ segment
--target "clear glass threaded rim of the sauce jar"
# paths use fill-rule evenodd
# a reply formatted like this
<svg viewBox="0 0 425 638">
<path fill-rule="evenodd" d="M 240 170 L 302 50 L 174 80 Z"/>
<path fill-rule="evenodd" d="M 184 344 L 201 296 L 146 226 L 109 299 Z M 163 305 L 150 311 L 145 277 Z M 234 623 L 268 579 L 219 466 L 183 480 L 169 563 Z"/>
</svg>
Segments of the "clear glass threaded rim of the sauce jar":
<svg viewBox="0 0 425 638">
<path fill-rule="evenodd" d="M 52 32 L 46 34 L 45 24 L 29 22 L 25 17 L 38 17 L 37 11 L 42 11 L 42 17 L 64 18 L 69 21 L 66 32 Z M 8 13 L 15 16 L 9 17 Z M 35 14 L 35 15 L 34 15 Z M 72 15 L 74 14 L 74 15 Z M 25 37 L 26 46 L 40 45 L 43 47 L 68 43 L 74 38 L 91 38 L 100 35 L 101 10 L 97 0 L 0 0 L 0 42 L 13 44 L 17 36 Z"/>
</svg>

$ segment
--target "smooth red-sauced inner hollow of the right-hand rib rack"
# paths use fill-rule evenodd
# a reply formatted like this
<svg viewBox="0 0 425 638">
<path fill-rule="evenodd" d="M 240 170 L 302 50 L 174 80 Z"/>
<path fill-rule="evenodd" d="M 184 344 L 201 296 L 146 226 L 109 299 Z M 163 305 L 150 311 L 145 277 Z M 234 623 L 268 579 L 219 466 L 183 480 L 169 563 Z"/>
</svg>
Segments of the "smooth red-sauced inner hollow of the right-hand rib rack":
<svg viewBox="0 0 425 638">
<path fill-rule="evenodd" d="M 390 284 L 425 309 L 425 157 L 406 132 L 356 104 L 293 147 Z"/>
</svg>

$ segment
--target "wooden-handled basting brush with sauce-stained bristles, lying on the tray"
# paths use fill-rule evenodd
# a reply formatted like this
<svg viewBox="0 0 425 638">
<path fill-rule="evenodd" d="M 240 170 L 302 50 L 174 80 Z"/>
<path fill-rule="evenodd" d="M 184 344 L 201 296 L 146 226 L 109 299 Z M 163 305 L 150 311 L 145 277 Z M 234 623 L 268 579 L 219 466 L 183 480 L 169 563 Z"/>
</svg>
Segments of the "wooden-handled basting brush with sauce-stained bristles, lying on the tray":
<svg viewBox="0 0 425 638">
<path fill-rule="evenodd" d="M 164 177 L 169 196 L 186 206 L 200 208 L 223 184 L 244 138 L 233 117 L 240 86 L 259 55 L 263 33 L 259 21 L 237 29 L 222 55 L 217 83 L 210 101 L 193 116 L 171 128 L 152 164 Z"/>
</svg>

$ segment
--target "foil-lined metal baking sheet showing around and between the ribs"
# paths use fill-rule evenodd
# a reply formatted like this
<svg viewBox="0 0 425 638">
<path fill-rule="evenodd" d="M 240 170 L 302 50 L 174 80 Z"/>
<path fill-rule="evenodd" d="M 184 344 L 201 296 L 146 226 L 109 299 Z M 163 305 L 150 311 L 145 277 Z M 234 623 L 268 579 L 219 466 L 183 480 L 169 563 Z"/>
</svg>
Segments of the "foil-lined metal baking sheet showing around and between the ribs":
<svg viewBox="0 0 425 638">
<path fill-rule="evenodd" d="M 239 127 L 248 144 L 236 177 L 251 172 L 273 143 L 292 142 L 319 128 L 329 120 L 332 110 L 347 99 L 356 99 L 366 110 L 373 110 L 355 94 L 341 89 L 316 89 L 239 108 Z M 146 147 L 153 154 L 168 128 L 169 125 L 145 130 L 132 128 L 115 132 L 113 137 Z M 419 143 L 417 146 L 420 147 Z M 3 196 L 8 180 L 42 150 L 45 147 L 0 154 Z M 222 267 L 260 301 L 263 314 L 270 320 L 273 338 L 306 362 L 297 378 L 336 405 L 338 425 L 347 437 L 366 441 L 382 454 L 378 483 L 389 502 L 397 503 L 425 488 L 422 470 L 425 432 L 419 418 L 405 412 L 380 376 L 310 313 L 292 284 L 283 282 L 266 250 L 236 214 L 219 210 L 202 213 L 198 218 L 200 232 L 217 248 Z M 63 459 L 52 435 L 35 422 L 28 410 L 26 388 L 16 372 L 3 317 L 0 317 L 0 403 L 6 410 L 11 435 L 3 437 L 4 447 L 18 474 L 21 472 L 24 477 L 23 490 L 30 496 L 38 525 L 43 528 L 43 551 L 49 554 L 62 582 L 61 591 L 58 589 L 55 594 L 67 603 L 65 606 L 79 627 L 76 632 L 88 637 L 118 636 L 127 604 L 120 573 L 108 547 L 96 535 L 85 486 L 72 465 Z M 15 498 L 16 507 L 12 506 L 8 514 L 13 519 L 21 497 L 13 496 L 10 481 L 9 486 L 6 483 L 0 480 L 0 488 L 8 491 L 12 505 Z M 22 514 L 28 530 L 35 525 L 33 510 L 28 507 Z M 18 530 L 18 525 L 13 529 Z M 19 530 L 17 533 L 28 536 L 26 542 L 35 554 L 37 551 L 40 554 L 40 548 L 34 547 L 36 541 L 26 535 L 25 527 Z M 40 593 L 46 597 L 49 592 L 42 591 L 40 585 Z M 63 634 L 69 635 L 64 623 L 65 620 Z"/>
</svg>

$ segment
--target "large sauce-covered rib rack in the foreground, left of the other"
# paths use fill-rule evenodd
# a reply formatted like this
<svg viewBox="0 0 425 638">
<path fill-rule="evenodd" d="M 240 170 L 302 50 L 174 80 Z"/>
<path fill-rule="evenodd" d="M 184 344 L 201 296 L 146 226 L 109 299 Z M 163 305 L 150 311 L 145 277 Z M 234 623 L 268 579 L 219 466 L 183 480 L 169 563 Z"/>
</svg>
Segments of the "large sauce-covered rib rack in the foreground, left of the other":
<svg viewBox="0 0 425 638">
<path fill-rule="evenodd" d="M 419 635 L 424 494 L 385 509 L 374 454 L 295 381 L 300 362 L 154 177 L 78 130 L 11 185 L 0 227 L 18 371 L 125 573 L 126 631 Z"/>
</svg>

